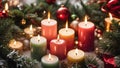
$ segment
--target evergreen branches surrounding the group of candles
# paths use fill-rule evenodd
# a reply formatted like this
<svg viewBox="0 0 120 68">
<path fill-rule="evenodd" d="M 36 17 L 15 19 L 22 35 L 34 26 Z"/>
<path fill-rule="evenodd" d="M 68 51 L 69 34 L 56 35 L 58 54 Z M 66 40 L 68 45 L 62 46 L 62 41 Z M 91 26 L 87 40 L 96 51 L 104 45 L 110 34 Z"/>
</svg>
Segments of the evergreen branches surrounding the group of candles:
<svg viewBox="0 0 120 68">
<path fill-rule="evenodd" d="M 2 4 L 4 4 L 4 1 Z M 75 20 L 75 18 L 80 18 L 80 21 L 84 19 L 85 15 L 89 16 L 89 20 L 94 22 L 96 28 L 99 28 L 103 31 L 102 40 L 98 40 L 98 48 L 102 49 L 101 54 L 109 53 L 114 55 L 116 58 L 116 64 L 120 67 L 120 21 L 113 20 L 111 26 L 111 32 L 105 31 L 104 19 L 107 16 L 104 12 L 101 11 L 101 7 L 104 3 L 92 3 L 84 4 L 82 0 L 80 1 L 82 8 L 76 8 L 74 5 L 71 5 L 69 0 L 64 4 L 68 8 L 71 15 L 69 16 L 69 24 Z M 78 6 L 79 7 L 79 6 Z M 4 65 L 0 67 L 4 68 L 37 68 L 38 62 L 36 60 L 20 56 L 16 51 L 9 49 L 8 43 L 11 39 L 21 36 L 23 29 L 30 24 L 34 26 L 40 26 L 40 21 L 44 18 L 47 18 L 47 13 L 51 12 L 51 18 L 58 21 L 58 28 L 62 28 L 65 25 L 65 21 L 59 20 L 56 18 L 56 11 L 60 8 L 58 4 L 48 4 L 45 0 L 38 0 L 37 5 L 22 5 L 21 7 L 10 7 L 7 17 L 0 17 L 0 57 L 4 60 Z M 74 17 L 73 17 L 74 16 Z M 22 19 L 26 20 L 26 24 L 22 24 Z M 84 67 L 89 68 L 89 65 L 98 66 L 96 60 L 97 57 L 91 58 L 86 57 L 86 63 L 82 64 Z M 1 60 L 1 59 L 0 59 Z M 3 63 L 0 61 L 0 63 Z M 61 64 L 63 67 L 68 67 L 67 63 Z M 72 67 L 76 67 L 73 64 Z M 78 64 L 77 67 L 81 67 L 81 64 Z"/>
</svg>

